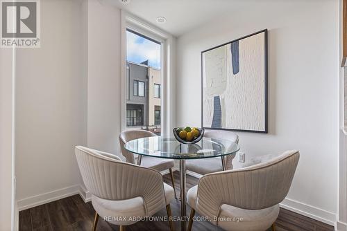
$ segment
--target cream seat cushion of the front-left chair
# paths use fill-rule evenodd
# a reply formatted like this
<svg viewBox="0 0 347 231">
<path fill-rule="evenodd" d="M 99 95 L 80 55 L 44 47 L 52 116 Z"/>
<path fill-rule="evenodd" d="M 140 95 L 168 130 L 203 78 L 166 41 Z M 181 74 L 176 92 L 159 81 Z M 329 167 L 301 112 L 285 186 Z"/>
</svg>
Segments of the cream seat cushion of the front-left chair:
<svg viewBox="0 0 347 231">
<path fill-rule="evenodd" d="M 174 198 L 174 188 L 164 183 L 164 194 L 167 204 Z M 106 200 L 92 195 L 94 210 L 103 219 L 115 225 L 131 225 L 136 223 L 137 217 L 146 216 L 144 200 L 141 196 L 126 200 Z"/>
</svg>

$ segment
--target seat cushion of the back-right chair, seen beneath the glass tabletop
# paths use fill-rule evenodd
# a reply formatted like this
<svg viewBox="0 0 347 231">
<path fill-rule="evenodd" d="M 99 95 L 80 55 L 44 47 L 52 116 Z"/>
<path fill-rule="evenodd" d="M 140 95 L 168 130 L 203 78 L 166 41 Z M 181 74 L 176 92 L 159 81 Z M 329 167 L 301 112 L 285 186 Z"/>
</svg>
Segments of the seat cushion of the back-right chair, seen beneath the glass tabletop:
<svg viewBox="0 0 347 231">
<path fill-rule="evenodd" d="M 221 166 L 221 157 L 187 160 L 185 166 L 187 167 L 187 170 L 201 175 L 223 170 L 223 167 Z"/>
</svg>

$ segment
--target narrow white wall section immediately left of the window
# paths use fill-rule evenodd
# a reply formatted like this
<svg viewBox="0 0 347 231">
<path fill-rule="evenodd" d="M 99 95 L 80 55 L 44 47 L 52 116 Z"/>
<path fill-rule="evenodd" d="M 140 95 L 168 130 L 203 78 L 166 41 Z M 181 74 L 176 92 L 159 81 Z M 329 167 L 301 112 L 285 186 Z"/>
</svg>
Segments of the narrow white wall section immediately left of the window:
<svg viewBox="0 0 347 231">
<path fill-rule="evenodd" d="M 119 154 L 121 131 L 121 12 L 88 1 L 87 145 Z"/>
</svg>

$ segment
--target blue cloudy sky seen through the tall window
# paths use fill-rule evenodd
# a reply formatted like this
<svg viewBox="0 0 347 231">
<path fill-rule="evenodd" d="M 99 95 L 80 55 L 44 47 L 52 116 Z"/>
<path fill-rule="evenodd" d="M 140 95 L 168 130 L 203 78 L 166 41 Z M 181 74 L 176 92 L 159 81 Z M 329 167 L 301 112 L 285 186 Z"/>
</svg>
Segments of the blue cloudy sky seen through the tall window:
<svg viewBox="0 0 347 231">
<path fill-rule="evenodd" d="M 149 66 L 160 69 L 160 44 L 126 31 L 126 59 L 137 64 L 149 59 Z"/>
</svg>

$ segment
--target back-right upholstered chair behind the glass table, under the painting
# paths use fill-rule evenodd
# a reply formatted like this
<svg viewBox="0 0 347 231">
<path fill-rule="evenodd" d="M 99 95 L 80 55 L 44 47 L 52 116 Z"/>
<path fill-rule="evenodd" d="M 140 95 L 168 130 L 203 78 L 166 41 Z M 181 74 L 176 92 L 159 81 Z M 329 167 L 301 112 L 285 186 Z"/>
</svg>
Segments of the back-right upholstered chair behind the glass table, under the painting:
<svg viewBox="0 0 347 231">
<path fill-rule="evenodd" d="M 230 140 L 237 143 L 239 142 L 239 136 L 237 136 L 236 133 L 225 130 L 206 129 L 203 137 Z M 232 169 L 233 158 L 235 158 L 235 154 L 225 157 L 222 156 L 208 159 L 187 160 L 185 165 L 187 170 L 205 175 L 212 172 L 223 171 L 223 165 L 225 165 L 224 169 L 226 170 Z"/>
</svg>

